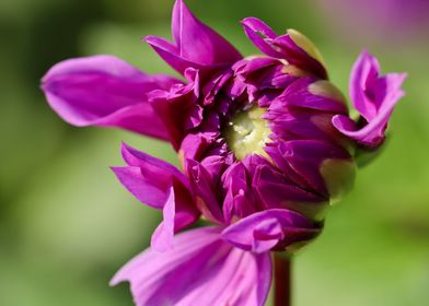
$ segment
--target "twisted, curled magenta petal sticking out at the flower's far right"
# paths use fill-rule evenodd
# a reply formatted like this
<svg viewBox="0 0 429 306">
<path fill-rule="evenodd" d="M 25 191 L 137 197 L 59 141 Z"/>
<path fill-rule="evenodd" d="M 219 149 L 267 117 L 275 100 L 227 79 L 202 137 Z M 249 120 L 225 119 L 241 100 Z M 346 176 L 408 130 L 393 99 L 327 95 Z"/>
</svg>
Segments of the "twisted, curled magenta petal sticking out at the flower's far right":
<svg viewBox="0 0 429 306">
<path fill-rule="evenodd" d="M 333 118 L 334 126 L 345 136 L 368 148 L 376 148 L 385 139 L 385 129 L 396 103 L 404 96 L 402 84 L 406 73 L 380 75 L 375 57 L 363 51 L 355 63 L 350 78 L 350 96 L 361 115 L 356 123 L 344 115 Z"/>
</svg>

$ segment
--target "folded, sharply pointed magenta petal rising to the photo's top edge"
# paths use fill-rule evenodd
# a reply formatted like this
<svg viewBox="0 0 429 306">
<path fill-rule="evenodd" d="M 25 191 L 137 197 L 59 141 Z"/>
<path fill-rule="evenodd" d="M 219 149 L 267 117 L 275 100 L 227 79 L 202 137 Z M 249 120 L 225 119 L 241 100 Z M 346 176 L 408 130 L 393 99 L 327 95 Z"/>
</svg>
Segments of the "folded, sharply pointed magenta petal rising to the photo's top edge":
<svg viewBox="0 0 429 306">
<path fill-rule="evenodd" d="M 149 36 L 146 40 L 175 70 L 219 67 L 241 59 L 240 52 L 213 30 L 197 20 L 183 0 L 176 0 L 172 15 L 174 43 Z"/>
</svg>

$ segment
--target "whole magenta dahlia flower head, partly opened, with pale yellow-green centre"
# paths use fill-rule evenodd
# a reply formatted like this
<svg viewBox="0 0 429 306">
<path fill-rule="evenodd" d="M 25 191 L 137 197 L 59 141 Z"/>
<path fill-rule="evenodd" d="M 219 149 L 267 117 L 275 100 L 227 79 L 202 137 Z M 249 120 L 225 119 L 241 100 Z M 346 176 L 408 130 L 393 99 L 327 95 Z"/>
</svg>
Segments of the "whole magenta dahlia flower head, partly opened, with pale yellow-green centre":
<svg viewBox="0 0 429 306">
<path fill-rule="evenodd" d="M 293 254 L 322 231 L 349 189 L 356 156 L 383 143 L 404 74 L 380 74 L 363 51 L 351 102 L 328 81 L 302 34 L 242 21 L 264 54 L 242 57 L 175 2 L 173 42 L 146 40 L 184 79 L 149 75 L 95 56 L 56 64 L 43 79 L 50 106 L 74 126 L 118 127 L 170 141 L 181 168 L 127 144 L 113 167 L 138 200 L 162 210 L 151 248 L 113 278 L 136 305 L 264 305 L 271 254 Z M 207 226 L 182 232 L 199 219 Z"/>
</svg>

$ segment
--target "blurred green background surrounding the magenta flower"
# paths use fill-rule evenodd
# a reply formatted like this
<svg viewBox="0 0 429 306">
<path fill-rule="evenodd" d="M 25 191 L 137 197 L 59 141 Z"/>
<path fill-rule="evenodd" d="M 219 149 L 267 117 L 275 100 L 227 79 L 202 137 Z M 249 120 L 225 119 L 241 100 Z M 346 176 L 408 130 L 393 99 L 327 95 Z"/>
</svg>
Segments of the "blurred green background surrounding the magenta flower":
<svg viewBox="0 0 429 306">
<path fill-rule="evenodd" d="M 394 42 L 366 38 L 370 30 L 353 28 L 358 39 L 323 0 L 187 3 L 244 55 L 256 52 L 239 24 L 245 16 L 258 16 L 278 32 L 305 33 L 344 92 L 363 46 L 384 71 L 409 73 L 383 154 L 359 172 L 353 191 L 332 209 L 324 234 L 297 257 L 293 299 L 295 306 L 427 305 L 428 28 Z M 107 166 L 123 164 L 121 140 L 172 163 L 174 152 L 125 131 L 68 126 L 49 109 L 38 83 L 59 60 L 95 54 L 116 55 L 148 72 L 172 72 L 140 42 L 148 34 L 170 37 L 172 5 L 173 0 L 0 1 L 0 305 L 131 305 L 126 284 L 111 289 L 107 282 L 146 248 L 160 213 L 138 203 Z"/>
</svg>

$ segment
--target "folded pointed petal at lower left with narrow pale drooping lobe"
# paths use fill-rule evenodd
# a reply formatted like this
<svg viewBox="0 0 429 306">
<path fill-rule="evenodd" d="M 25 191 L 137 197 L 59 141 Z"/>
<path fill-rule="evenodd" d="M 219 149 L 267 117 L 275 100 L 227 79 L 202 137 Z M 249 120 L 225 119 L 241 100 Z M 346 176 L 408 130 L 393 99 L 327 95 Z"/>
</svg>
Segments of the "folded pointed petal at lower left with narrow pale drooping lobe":
<svg viewBox="0 0 429 306">
<path fill-rule="evenodd" d="M 126 144 L 123 156 L 128 166 L 112 169 L 124 187 L 141 202 L 163 210 L 163 222 L 152 236 L 152 246 L 164 251 L 172 247 L 174 233 L 199 216 L 188 179 L 174 166 Z"/>
</svg>

